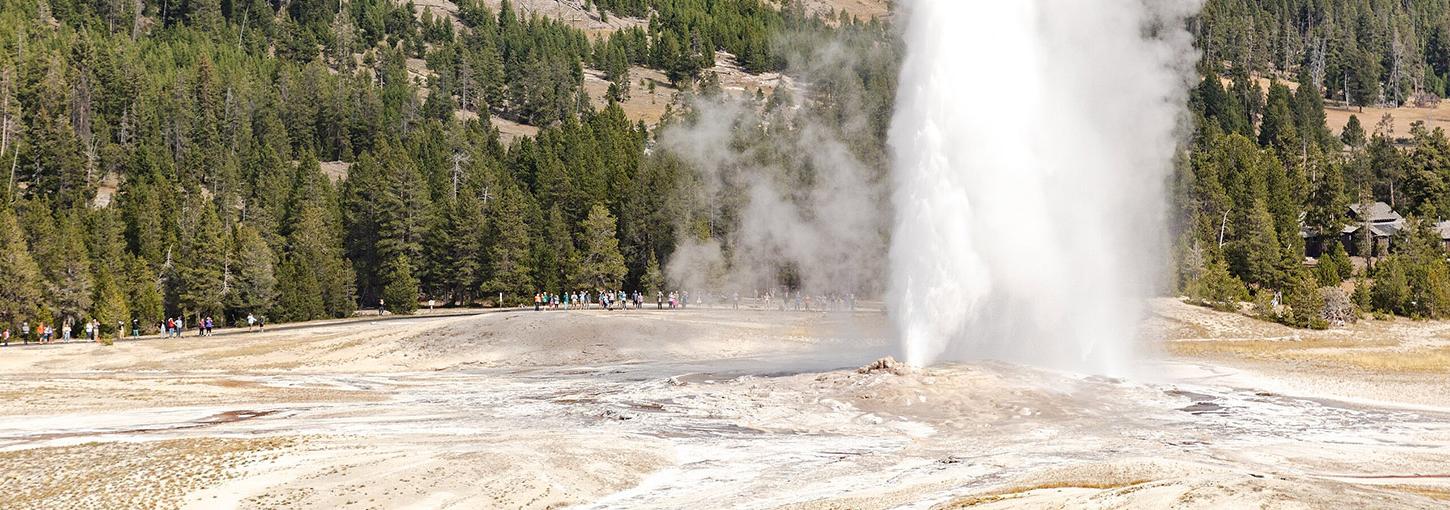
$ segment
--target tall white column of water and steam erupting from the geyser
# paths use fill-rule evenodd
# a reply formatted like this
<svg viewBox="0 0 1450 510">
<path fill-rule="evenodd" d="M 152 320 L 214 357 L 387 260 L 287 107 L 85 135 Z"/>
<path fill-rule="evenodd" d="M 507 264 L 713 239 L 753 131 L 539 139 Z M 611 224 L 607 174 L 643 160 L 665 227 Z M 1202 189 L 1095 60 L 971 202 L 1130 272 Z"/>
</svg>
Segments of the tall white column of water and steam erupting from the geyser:
<svg viewBox="0 0 1450 510">
<path fill-rule="evenodd" d="M 915 0 L 890 132 L 906 361 L 1125 367 L 1163 251 L 1192 0 Z"/>
</svg>

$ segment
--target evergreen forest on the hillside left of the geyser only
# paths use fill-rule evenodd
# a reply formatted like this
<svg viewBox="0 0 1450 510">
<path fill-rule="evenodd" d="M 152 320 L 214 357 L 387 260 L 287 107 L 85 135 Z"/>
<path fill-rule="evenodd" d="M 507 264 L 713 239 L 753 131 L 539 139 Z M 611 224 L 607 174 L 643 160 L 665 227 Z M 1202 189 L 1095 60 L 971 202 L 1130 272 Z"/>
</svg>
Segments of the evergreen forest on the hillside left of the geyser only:
<svg viewBox="0 0 1450 510">
<path fill-rule="evenodd" d="M 724 94 L 716 51 L 779 70 L 838 35 L 861 54 L 895 43 L 880 22 L 763 7 L 661 3 L 647 28 L 590 39 L 508 0 L 463 1 L 457 23 L 389 0 L 4 3 L 0 323 L 109 332 L 663 288 L 677 236 L 728 238 L 732 206 L 683 198 L 692 172 L 650 146 L 696 113 L 626 119 L 613 100 L 628 67 L 703 97 Z M 764 43 L 787 26 L 793 46 Z M 789 136 L 793 117 L 858 110 L 869 94 L 884 133 L 893 62 L 887 51 L 842 68 L 813 97 L 745 100 Z M 584 94 L 584 67 L 615 80 L 606 106 Z M 541 130 L 505 142 L 490 116 Z M 882 161 L 879 139 L 856 142 Z"/>
</svg>

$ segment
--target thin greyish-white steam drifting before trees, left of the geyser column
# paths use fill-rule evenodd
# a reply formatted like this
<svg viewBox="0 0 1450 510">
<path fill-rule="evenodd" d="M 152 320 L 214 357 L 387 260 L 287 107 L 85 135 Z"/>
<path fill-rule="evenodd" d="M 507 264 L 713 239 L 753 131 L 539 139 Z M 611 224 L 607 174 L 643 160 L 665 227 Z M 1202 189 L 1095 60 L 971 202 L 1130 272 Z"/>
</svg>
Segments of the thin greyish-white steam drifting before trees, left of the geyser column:
<svg viewBox="0 0 1450 510">
<path fill-rule="evenodd" d="M 796 75 L 850 68 L 853 58 L 831 43 L 811 57 L 802 59 L 812 68 Z M 750 296 L 789 281 L 813 296 L 880 293 L 886 175 L 842 141 L 866 129 L 861 112 L 825 126 L 808 109 L 770 110 L 731 94 L 693 99 L 690 114 L 658 138 L 661 151 L 689 167 L 696 209 L 666 268 L 671 285 Z M 726 225 L 716 229 L 724 236 L 700 236 L 702 223 L 713 222 Z"/>
</svg>

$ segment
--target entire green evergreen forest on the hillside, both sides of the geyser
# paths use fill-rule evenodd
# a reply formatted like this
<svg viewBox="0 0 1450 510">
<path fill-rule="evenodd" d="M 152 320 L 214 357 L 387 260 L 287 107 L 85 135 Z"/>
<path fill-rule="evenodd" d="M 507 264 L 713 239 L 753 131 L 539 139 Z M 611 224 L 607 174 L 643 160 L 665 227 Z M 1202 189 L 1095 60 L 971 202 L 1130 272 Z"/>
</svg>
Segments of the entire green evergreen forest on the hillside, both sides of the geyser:
<svg viewBox="0 0 1450 510">
<path fill-rule="evenodd" d="M 728 94 L 751 110 L 732 148 L 776 159 L 780 180 L 813 178 L 809 159 L 768 149 L 805 126 L 831 126 L 886 174 L 890 19 L 796 0 L 592 0 L 593 16 L 638 23 L 590 33 L 510 0 L 454 4 L 0 3 L 0 323 L 154 332 L 171 316 L 652 294 L 682 239 L 728 251 L 740 227 L 737 201 L 692 201 L 703 184 L 689 162 L 655 151 L 702 114 L 692 104 Z M 1166 291 L 1304 327 L 1337 306 L 1450 316 L 1450 139 L 1392 116 L 1325 120 L 1450 93 L 1450 4 L 1208 0 L 1189 29 L 1202 80 L 1172 177 Z M 713 71 L 790 74 L 822 52 L 851 58 L 799 88 L 732 93 Z M 679 90 L 658 123 L 619 104 L 641 68 Z M 589 96 L 586 71 L 610 81 L 606 97 Z M 1375 203 L 1404 214 L 1389 239 L 1353 229 L 1347 212 Z"/>
</svg>

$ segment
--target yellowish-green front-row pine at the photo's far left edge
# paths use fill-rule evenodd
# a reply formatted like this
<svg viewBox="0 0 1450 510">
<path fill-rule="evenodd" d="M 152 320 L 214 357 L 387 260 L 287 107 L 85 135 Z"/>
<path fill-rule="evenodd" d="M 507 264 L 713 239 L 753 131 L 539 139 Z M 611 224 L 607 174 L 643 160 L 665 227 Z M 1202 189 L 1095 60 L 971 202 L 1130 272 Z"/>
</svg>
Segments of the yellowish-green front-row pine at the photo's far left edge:
<svg viewBox="0 0 1450 510">
<path fill-rule="evenodd" d="M 39 317 L 41 268 L 30 258 L 14 212 L 0 209 L 0 326 L 19 335 L 19 325 Z"/>
</svg>

